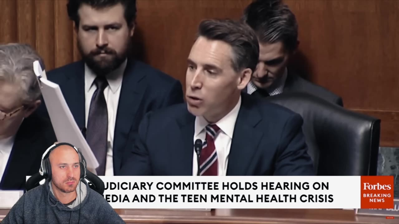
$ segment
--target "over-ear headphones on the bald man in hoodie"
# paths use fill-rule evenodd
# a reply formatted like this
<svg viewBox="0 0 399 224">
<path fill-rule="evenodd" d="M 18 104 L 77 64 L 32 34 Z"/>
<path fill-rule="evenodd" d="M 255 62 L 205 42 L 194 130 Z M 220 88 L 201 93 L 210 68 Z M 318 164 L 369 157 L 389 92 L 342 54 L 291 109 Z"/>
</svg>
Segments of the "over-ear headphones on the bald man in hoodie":
<svg viewBox="0 0 399 224">
<path fill-rule="evenodd" d="M 73 146 L 69 143 L 65 143 L 65 142 L 51 145 L 43 153 L 43 155 L 41 156 L 41 163 L 40 163 L 40 169 L 39 169 L 40 175 L 42 175 L 43 177 L 46 177 L 46 178 L 51 178 L 51 164 L 50 164 L 49 154 L 53 149 L 55 149 L 56 147 L 58 147 L 60 145 L 69 145 L 69 146 L 73 147 L 75 149 L 75 151 L 80 155 L 80 157 L 81 157 L 81 159 L 79 160 L 80 179 L 85 178 L 86 173 L 87 173 L 85 157 L 83 157 L 82 153 L 75 146 Z"/>
</svg>

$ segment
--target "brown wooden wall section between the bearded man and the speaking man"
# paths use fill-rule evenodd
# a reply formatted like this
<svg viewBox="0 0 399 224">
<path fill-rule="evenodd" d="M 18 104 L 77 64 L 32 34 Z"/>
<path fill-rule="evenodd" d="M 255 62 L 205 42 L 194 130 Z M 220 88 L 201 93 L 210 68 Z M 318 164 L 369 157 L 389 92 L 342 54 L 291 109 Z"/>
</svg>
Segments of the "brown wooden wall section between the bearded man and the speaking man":
<svg viewBox="0 0 399 224">
<path fill-rule="evenodd" d="M 248 0 L 138 0 L 141 59 L 185 83 L 187 57 L 206 18 L 239 18 Z"/>
</svg>

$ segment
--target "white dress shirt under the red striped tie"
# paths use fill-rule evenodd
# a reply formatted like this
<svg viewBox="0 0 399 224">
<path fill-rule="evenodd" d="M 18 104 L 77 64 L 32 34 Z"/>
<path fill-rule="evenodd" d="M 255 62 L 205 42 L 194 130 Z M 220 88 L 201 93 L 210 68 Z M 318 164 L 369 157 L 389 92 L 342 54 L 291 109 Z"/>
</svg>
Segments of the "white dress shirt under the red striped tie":
<svg viewBox="0 0 399 224">
<path fill-rule="evenodd" d="M 231 140 L 233 139 L 233 132 L 235 122 L 237 120 L 238 112 L 241 107 L 241 96 L 233 108 L 226 116 L 216 122 L 216 125 L 221 129 L 219 134 L 215 136 L 215 148 L 217 153 L 217 175 L 225 176 L 227 173 L 227 163 L 229 161 L 229 153 Z M 203 117 L 196 117 L 195 126 L 194 126 L 194 142 L 197 139 L 201 139 L 202 142 L 205 141 L 206 131 L 205 127 L 209 123 Z M 193 155 L 193 176 L 197 175 L 198 171 L 198 162 L 197 162 L 197 153 L 194 150 Z"/>
</svg>

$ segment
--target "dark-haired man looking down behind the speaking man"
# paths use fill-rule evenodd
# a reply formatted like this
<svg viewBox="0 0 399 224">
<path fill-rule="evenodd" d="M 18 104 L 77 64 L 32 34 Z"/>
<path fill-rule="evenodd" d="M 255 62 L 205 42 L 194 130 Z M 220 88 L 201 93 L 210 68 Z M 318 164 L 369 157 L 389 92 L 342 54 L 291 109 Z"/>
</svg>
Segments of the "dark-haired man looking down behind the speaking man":
<svg viewBox="0 0 399 224">
<path fill-rule="evenodd" d="M 281 0 L 254 0 L 245 8 L 242 20 L 257 34 L 260 51 L 247 93 L 266 97 L 284 92 L 308 92 L 343 106 L 340 96 L 287 69 L 289 59 L 298 48 L 298 24 Z"/>
</svg>

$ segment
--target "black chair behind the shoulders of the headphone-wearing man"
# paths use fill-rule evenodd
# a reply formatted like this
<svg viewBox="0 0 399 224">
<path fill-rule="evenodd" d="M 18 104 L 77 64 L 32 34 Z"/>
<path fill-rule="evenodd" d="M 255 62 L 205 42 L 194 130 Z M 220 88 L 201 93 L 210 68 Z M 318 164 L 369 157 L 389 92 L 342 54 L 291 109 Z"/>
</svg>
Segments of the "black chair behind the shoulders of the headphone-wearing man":
<svg viewBox="0 0 399 224">
<path fill-rule="evenodd" d="M 29 179 L 26 181 L 26 191 L 38 187 L 40 185 L 39 182 L 43 179 L 44 177 L 40 175 L 40 173 L 36 173 L 32 177 L 29 177 Z M 90 171 L 87 171 L 85 179 L 89 181 L 88 184 L 91 189 L 97 191 L 100 195 L 103 195 L 105 190 L 105 185 L 103 180 L 100 179 L 100 177 L 98 177 L 94 173 L 91 173 Z"/>
</svg>

